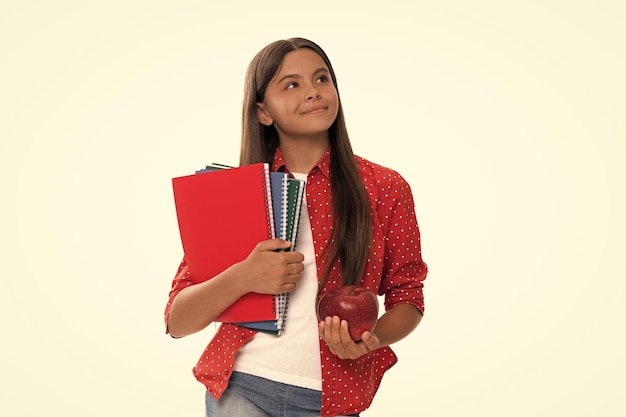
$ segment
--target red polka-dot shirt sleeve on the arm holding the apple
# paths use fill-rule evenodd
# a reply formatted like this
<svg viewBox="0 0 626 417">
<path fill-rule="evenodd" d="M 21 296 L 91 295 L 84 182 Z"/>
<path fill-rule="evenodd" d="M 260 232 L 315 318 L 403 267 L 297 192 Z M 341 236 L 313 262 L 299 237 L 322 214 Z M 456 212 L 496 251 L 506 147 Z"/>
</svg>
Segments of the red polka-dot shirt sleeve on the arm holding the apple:
<svg viewBox="0 0 626 417">
<path fill-rule="evenodd" d="M 409 303 L 423 314 L 423 281 L 428 268 L 422 260 L 413 194 L 406 180 L 395 171 L 380 184 L 378 214 L 385 242 L 380 292 L 385 296 L 385 309 Z"/>
</svg>

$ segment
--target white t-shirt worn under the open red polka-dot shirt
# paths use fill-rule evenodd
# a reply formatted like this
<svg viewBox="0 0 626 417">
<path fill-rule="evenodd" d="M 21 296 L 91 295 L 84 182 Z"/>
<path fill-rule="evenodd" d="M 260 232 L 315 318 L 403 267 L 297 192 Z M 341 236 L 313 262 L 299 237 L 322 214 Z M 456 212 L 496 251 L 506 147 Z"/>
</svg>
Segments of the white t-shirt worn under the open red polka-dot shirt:
<svg viewBox="0 0 626 417">
<path fill-rule="evenodd" d="M 306 174 L 293 174 L 306 180 Z M 237 353 L 235 370 L 320 391 L 322 372 L 315 303 L 317 267 L 306 196 L 296 250 L 304 255 L 302 279 L 289 294 L 287 322 L 280 336 L 259 332 Z"/>
</svg>

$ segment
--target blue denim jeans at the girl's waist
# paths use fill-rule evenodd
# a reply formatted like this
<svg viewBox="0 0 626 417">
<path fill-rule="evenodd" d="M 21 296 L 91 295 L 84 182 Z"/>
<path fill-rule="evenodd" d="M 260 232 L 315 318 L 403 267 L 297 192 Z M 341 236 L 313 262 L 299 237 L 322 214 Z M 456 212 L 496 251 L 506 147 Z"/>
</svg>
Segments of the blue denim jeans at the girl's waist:
<svg viewBox="0 0 626 417">
<path fill-rule="evenodd" d="M 233 372 L 220 400 L 207 391 L 205 402 L 207 417 L 319 417 L 322 393 Z"/>
</svg>

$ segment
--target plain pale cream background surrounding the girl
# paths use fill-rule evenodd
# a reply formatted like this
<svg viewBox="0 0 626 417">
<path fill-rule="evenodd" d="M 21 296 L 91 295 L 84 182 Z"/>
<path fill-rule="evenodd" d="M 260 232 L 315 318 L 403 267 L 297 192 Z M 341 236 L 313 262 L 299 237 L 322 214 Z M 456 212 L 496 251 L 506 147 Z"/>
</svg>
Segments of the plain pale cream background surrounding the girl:
<svg viewBox="0 0 626 417">
<path fill-rule="evenodd" d="M 164 334 L 170 180 L 237 162 L 248 62 L 304 36 L 356 153 L 411 184 L 430 267 L 363 415 L 624 415 L 625 20 L 618 0 L 2 2 L 0 414 L 203 415 L 214 329 Z"/>
</svg>

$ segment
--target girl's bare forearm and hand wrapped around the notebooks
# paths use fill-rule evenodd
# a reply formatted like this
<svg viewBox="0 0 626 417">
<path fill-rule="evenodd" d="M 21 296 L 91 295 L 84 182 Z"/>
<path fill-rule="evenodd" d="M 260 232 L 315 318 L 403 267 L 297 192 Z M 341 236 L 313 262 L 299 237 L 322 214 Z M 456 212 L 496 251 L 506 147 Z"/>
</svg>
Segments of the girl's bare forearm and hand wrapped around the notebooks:
<svg viewBox="0 0 626 417">
<path fill-rule="evenodd" d="M 248 292 L 280 294 L 292 291 L 300 281 L 304 256 L 277 252 L 291 244 L 282 239 L 260 242 L 250 255 L 215 277 L 184 288 L 172 301 L 167 322 L 173 337 L 204 329 Z"/>
</svg>

